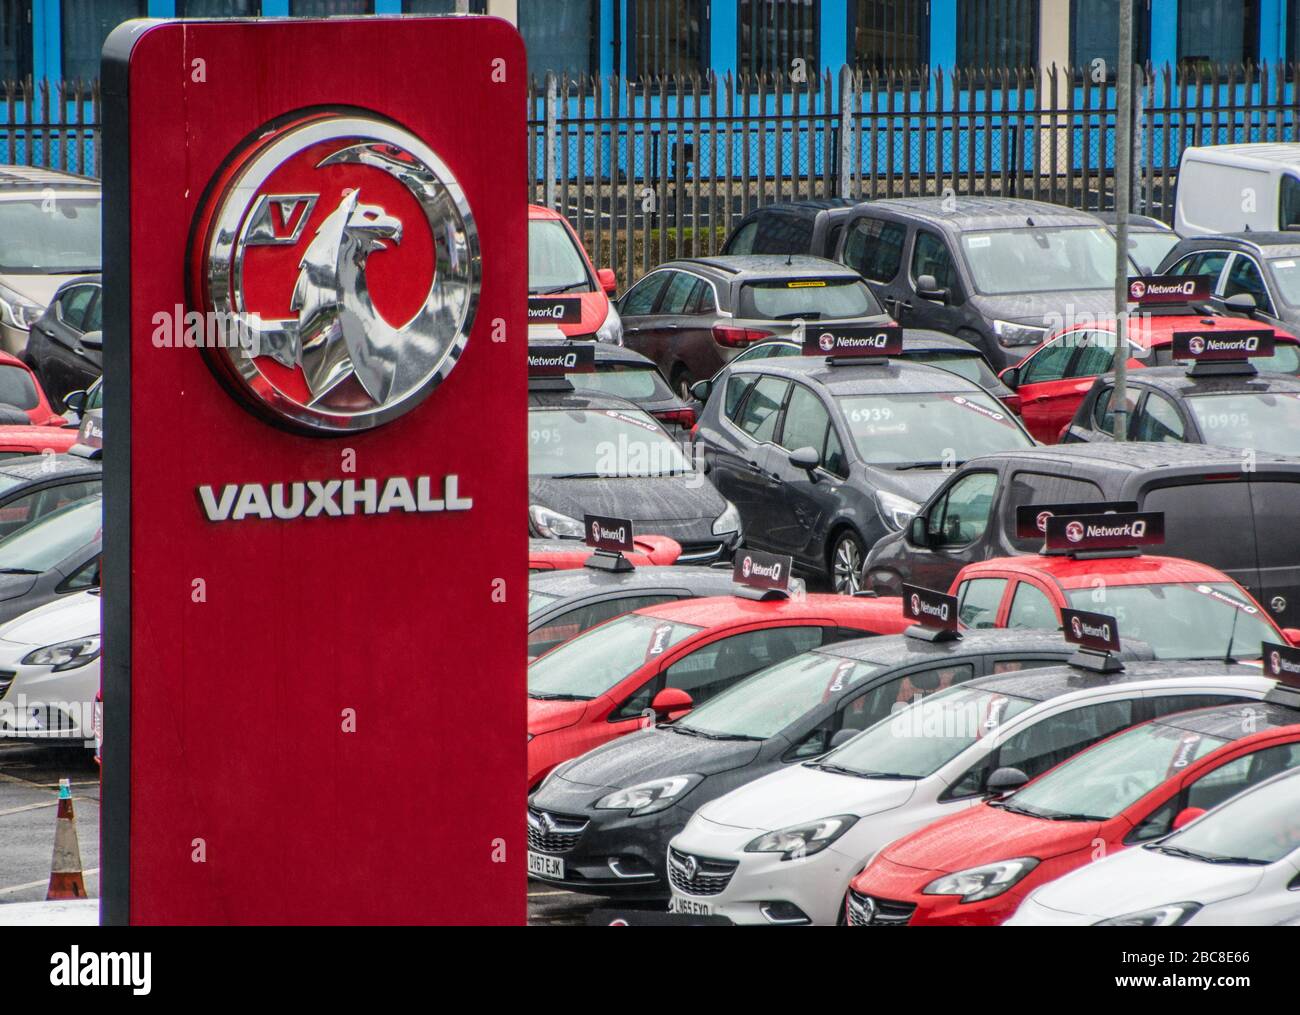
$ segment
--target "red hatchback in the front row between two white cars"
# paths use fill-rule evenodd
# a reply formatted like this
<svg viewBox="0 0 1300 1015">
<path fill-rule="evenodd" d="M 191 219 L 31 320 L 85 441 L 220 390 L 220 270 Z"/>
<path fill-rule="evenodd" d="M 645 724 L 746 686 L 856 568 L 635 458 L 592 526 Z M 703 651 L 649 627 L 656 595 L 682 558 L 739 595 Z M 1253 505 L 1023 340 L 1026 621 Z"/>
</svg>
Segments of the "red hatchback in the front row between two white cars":
<svg viewBox="0 0 1300 1015">
<path fill-rule="evenodd" d="M 1040 885 L 1297 764 L 1300 711 L 1280 700 L 1144 723 L 885 846 L 850 882 L 846 921 L 910 910 L 910 927 L 1000 924 Z"/>
</svg>

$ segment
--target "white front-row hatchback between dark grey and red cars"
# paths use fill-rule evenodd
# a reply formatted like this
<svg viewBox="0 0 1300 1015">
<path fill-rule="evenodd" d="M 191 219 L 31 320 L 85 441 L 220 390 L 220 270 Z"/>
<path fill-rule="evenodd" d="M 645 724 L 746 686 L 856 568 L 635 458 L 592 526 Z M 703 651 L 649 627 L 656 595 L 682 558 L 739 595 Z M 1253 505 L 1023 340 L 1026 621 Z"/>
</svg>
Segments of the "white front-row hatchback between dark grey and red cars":
<svg viewBox="0 0 1300 1015">
<path fill-rule="evenodd" d="M 896 838 L 1136 723 L 1274 686 L 1249 667 L 1131 663 L 1115 675 L 1050 667 L 949 687 L 701 807 L 668 845 L 670 908 L 737 924 L 837 923 L 849 881 Z"/>
</svg>

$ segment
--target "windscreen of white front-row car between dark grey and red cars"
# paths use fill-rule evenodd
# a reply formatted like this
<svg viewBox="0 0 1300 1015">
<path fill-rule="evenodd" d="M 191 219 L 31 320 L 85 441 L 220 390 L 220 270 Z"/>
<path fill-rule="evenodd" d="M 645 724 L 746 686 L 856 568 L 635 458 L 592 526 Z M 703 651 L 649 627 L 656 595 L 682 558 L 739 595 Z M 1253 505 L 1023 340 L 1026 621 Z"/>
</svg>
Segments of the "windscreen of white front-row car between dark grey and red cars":
<svg viewBox="0 0 1300 1015">
<path fill-rule="evenodd" d="M 863 777 L 924 778 L 1032 706 L 1028 698 L 953 687 L 881 719 L 812 764 Z"/>
</svg>

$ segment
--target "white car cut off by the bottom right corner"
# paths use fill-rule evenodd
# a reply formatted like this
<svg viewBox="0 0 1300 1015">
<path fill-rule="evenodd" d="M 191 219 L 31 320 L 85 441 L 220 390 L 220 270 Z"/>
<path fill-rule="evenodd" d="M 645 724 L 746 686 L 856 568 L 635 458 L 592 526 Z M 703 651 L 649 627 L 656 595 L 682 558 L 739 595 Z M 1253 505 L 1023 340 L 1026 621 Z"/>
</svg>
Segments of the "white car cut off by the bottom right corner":
<svg viewBox="0 0 1300 1015">
<path fill-rule="evenodd" d="M 1030 893 L 1006 927 L 1300 923 L 1300 769 Z"/>
</svg>

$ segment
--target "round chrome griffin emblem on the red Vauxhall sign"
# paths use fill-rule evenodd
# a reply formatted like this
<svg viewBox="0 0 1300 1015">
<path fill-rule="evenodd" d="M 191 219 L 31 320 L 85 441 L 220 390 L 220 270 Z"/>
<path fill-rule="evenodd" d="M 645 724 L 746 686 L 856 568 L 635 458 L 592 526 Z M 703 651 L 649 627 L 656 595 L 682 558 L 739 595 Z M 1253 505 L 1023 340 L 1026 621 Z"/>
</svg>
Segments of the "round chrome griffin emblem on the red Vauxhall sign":
<svg viewBox="0 0 1300 1015">
<path fill-rule="evenodd" d="M 240 340 L 203 343 L 263 416 L 351 433 L 415 408 L 451 373 L 478 305 L 459 182 L 416 135 L 360 113 L 268 129 L 218 174 L 190 290 Z"/>
</svg>

